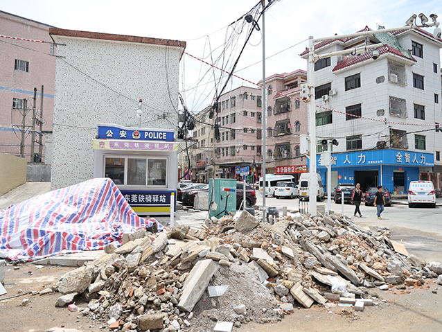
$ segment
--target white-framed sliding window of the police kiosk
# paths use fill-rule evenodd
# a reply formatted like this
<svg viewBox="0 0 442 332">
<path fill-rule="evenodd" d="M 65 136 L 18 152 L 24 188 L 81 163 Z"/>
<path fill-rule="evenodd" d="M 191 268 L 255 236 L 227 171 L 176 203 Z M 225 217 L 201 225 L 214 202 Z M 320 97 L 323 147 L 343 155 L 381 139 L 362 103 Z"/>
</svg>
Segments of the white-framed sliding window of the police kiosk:
<svg viewBox="0 0 442 332">
<path fill-rule="evenodd" d="M 168 162 L 161 157 L 105 156 L 105 177 L 121 186 L 167 186 Z"/>
</svg>

